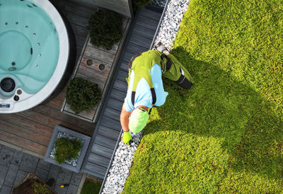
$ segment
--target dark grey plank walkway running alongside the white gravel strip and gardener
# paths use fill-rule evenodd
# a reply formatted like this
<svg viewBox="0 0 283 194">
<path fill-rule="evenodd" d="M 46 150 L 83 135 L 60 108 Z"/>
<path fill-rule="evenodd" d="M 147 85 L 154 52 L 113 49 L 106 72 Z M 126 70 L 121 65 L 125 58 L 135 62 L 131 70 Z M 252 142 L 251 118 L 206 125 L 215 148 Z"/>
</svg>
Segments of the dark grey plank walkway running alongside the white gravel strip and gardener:
<svg viewBox="0 0 283 194">
<path fill-rule="evenodd" d="M 143 12 L 144 11 L 144 12 Z M 128 63 L 137 52 L 149 50 L 154 39 L 161 13 L 141 8 L 125 42 L 122 55 L 98 118 L 96 131 L 91 141 L 91 149 L 86 154 L 83 171 L 93 176 L 105 176 L 111 162 L 117 140 L 121 135 L 120 111 L 127 95 Z M 103 178 L 104 178 L 103 176 Z"/>
</svg>

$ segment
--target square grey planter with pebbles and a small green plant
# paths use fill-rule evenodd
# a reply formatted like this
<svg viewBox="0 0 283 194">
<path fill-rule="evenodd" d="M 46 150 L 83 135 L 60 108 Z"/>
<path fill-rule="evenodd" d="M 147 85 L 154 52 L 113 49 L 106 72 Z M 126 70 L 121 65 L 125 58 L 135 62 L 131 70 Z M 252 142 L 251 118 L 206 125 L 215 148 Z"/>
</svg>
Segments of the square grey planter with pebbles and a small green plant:
<svg viewBox="0 0 283 194">
<path fill-rule="evenodd" d="M 91 137 L 56 125 L 44 160 L 78 173 Z"/>
</svg>

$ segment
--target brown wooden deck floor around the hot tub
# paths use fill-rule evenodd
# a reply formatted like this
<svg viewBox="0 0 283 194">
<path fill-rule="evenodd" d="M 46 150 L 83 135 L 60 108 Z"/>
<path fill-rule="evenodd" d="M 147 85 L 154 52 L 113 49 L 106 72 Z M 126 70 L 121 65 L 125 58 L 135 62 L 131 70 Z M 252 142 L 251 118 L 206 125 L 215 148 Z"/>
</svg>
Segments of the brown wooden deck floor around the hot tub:
<svg viewBox="0 0 283 194">
<path fill-rule="evenodd" d="M 76 60 L 81 55 L 88 31 L 88 18 L 94 12 L 88 8 L 71 4 L 69 1 L 52 0 L 52 3 L 67 17 L 76 37 Z M 62 125 L 71 130 L 92 136 L 95 125 L 60 111 L 65 98 L 65 91 L 52 101 L 37 105 L 30 110 L 0 114 L 0 143 L 10 144 L 25 151 L 44 156 L 55 125 Z"/>
</svg>

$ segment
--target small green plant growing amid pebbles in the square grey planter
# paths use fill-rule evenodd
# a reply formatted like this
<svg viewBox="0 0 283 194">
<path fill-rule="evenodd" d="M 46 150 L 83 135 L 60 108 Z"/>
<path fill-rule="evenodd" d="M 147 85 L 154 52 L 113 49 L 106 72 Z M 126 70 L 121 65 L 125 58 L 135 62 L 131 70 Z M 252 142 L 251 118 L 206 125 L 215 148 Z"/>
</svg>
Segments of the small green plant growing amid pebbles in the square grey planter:
<svg viewBox="0 0 283 194">
<path fill-rule="evenodd" d="M 60 137 L 54 143 L 55 154 L 54 159 L 58 164 L 63 164 L 64 161 L 76 159 L 79 156 L 82 144 L 79 139 L 69 139 L 68 137 Z"/>
</svg>

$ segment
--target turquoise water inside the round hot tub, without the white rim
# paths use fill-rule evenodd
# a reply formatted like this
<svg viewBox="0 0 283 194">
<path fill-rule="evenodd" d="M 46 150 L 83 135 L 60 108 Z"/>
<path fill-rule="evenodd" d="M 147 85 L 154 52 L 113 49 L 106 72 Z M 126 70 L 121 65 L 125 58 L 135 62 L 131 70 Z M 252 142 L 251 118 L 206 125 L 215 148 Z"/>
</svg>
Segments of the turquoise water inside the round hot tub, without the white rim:
<svg viewBox="0 0 283 194">
<path fill-rule="evenodd" d="M 18 88 L 29 94 L 40 91 L 58 57 L 57 30 L 40 6 L 27 0 L 0 0 L 1 98 L 10 98 Z"/>
</svg>

